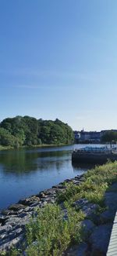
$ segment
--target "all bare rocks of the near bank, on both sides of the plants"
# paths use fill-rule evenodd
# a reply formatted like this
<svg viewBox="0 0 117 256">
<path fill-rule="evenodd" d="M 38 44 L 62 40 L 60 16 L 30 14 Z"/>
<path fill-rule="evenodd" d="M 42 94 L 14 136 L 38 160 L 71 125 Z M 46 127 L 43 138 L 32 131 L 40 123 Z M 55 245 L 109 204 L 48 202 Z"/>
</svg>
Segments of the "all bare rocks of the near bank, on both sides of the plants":
<svg viewBox="0 0 117 256">
<path fill-rule="evenodd" d="M 83 175 L 66 180 L 66 182 L 71 181 L 74 185 L 79 185 L 83 181 Z M 40 192 L 36 196 L 21 199 L 7 210 L 2 210 L 0 214 L 0 251 L 9 251 L 12 245 L 20 247 L 20 243 L 25 240 L 25 225 L 36 212 L 37 207 L 44 207 L 47 203 L 55 203 L 57 193 L 65 190 L 66 185 L 63 182 Z M 116 205 L 117 183 L 114 183 L 109 192 L 105 193 L 105 207 L 107 209 L 101 214 L 96 213 L 98 205 L 90 203 L 85 198 L 74 202 L 73 206 L 83 210 L 85 214 L 85 219 L 81 222 L 84 239 L 83 243 L 79 246 L 70 247 L 63 255 L 106 255 Z M 62 204 L 61 207 L 64 218 L 67 219 L 67 210 Z"/>
</svg>

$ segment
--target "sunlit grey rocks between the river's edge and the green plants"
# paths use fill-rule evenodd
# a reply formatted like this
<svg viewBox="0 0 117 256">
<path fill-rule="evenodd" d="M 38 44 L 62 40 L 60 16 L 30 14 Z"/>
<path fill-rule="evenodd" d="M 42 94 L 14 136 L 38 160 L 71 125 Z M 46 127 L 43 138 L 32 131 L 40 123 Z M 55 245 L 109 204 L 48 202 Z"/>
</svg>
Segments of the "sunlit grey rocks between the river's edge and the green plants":
<svg viewBox="0 0 117 256">
<path fill-rule="evenodd" d="M 73 181 L 79 185 L 83 176 L 76 176 L 67 179 L 66 182 Z M 24 240 L 25 225 L 30 217 L 34 215 L 37 207 L 44 207 L 47 203 L 55 203 L 57 193 L 66 189 L 64 183 L 59 183 L 50 189 L 39 192 L 36 196 L 20 199 L 16 204 L 12 204 L 8 209 L 0 213 L 0 251 L 8 251 L 12 246 L 18 246 Z"/>
</svg>

